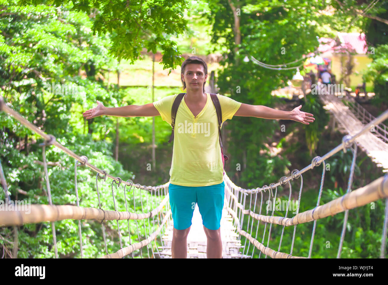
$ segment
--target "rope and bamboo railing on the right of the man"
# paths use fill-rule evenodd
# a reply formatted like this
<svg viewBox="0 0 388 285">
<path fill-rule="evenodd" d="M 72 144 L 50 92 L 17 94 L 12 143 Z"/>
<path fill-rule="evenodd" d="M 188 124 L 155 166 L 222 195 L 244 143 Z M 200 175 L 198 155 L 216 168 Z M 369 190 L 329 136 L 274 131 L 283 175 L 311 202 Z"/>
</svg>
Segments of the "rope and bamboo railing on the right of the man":
<svg viewBox="0 0 388 285">
<path fill-rule="evenodd" d="M 237 187 L 225 174 L 224 175 L 224 181 L 225 181 L 225 199 L 227 201 L 227 211 L 234 219 L 234 227 L 236 228 L 236 232 L 239 234 L 239 238 L 241 236 L 244 236 L 245 243 L 243 246 L 243 252 L 246 249 L 246 241 L 249 240 L 248 248 L 247 248 L 247 255 L 249 252 L 249 245 L 253 244 L 257 249 L 260 250 L 260 254 L 265 254 L 265 257 L 270 256 L 272 258 L 296 258 L 296 256 L 292 255 L 293 252 L 293 246 L 294 246 L 294 238 L 295 238 L 295 232 L 296 232 L 296 225 L 299 225 L 301 223 L 307 223 L 310 221 L 314 221 L 313 229 L 312 229 L 312 235 L 311 235 L 311 241 L 310 241 L 310 247 L 309 247 L 309 253 L 308 258 L 311 257 L 312 254 L 312 246 L 314 243 L 314 235 L 315 235 L 315 229 L 316 229 L 316 223 L 318 219 L 326 218 L 328 216 L 333 216 L 335 214 L 338 214 L 340 212 L 345 212 L 344 220 L 343 220 L 343 228 L 341 232 L 339 247 L 338 247 L 338 254 L 337 258 L 340 258 L 341 256 L 341 250 L 342 250 L 342 244 L 345 237 L 345 227 L 347 224 L 347 218 L 348 218 L 348 210 L 354 209 L 356 207 L 365 206 L 366 204 L 369 204 L 371 202 L 374 202 L 379 199 L 387 198 L 388 197 L 388 174 L 386 176 L 382 176 L 368 185 L 361 187 L 357 190 L 352 191 L 352 183 L 353 183 L 353 175 L 354 175 L 354 168 L 355 168 L 355 160 L 357 157 L 357 144 L 355 142 L 355 139 L 359 137 L 360 135 L 364 134 L 366 131 L 371 129 L 372 125 L 378 124 L 381 121 L 384 121 L 386 118 L 388 118 L 388 110 L 383 112 L 378 118 L 373 119 L 369 122 L 362 130 L 360 130 L 356 135 L 350 136 L 346 135 L 342 139 L 342 143 L 329 151 L 327 154 L 325 154 L 323 157 L 314 157 L 312 160 L 312 163 L 302 169 L 301 171 L 298 171 L 298 169 L 294 169 L 291 172 L 291 175 L 289 177 L 283 176 L 280 178 L 278 183 L 271 183 L 269 186 L 264 185 L 263 187 L 258 187 L 256 189 L 244 189 L 241 187 Z M 324 205 L 320 205 L 320 197 L 322 194 L 323 184 L 324 184 L 324 177 L 325 177 L 325 171 L 326 171 L 326 163 L 325 159 L 333 156 L 337 152 L 339 152 L 341 149 L 346 152 L 346 149 L 351 149 L 353 154 L 352 159 L 352 165 L 350 167 L 350 175 L 348 179 L 348 187 L 346 194 L 338 199 L 334 199 L 330 202 L 327 202 Z M 309 169 L 313 169 L 315 166 L 320 165 L 322 163 L 323 169 L 322 169 L 322 176 L 320 181 L 320 189 L 317 199 L 317 206 L 314 209 L 310 209 L 308 211 L 304 211 L 299 213 L 299 205 L 300 205 L 300 199 L 301 199 L 301 191 L 303 188 L 303 178 L 302 174 L 308 171 Z M 291 180 L 294 180 L 294 178 L 301 178 L 301 187 L 299 191 L 299 198 L 298 198 L 298 209 L 296 210 L 296 214 L 293 218 L 288 218 L 288 209 L 291 202 Z M 268 191 L 268 202 L 271 201 L 271 197 L 273 197 L 272 204 L 275 205 L 276 195 L 277 195 L 277 187 L 279 185 L 283 185 L 288 183 L 289 185 L 289 198 L 287 201 L 286 206 L 286 213 L 284 216 L 274 216 L 274 210 L 275 207 L 272 209 L 272 214 L 268 215 L 268 207 L 267 207 L 267 213 L 263 215 L 261 213 L 262 211 L 262 204 L 263 204 L 263 195 L 267 190 Z M 275 194 L 274 194 L 274 188 L 275 188 Z M 260 194 L 260 212 L 256 213 L 256 202 L 257 202 L 257 195 Z M 249 206 L 248 209 L 246 208 L 246 196 L 250 195 L 249 197 Z M 253 211 L 251 210 L 252 207 L 252 195 L 255 195 L 255 201 L 253 203 Z M 386 235 L 387 235 L 387 215 L 388 215 L 388 202 L 386 202 L 386 209 L 385 209 L 386 217 L 383 225 L 383 237 L 382 237 L 382 244 L 381 244 L 381 258 L 385 257 L 385 241 L 386 241 Z M 248 223 L 246 224 L 246 231 L 242 229 L 241 224 L 244 224 L 244 215 L 248 216 Z M 252 218 L 251 224 L 249 223 L 250 218 Z M 256 228 L 256 234 L 255 237 L 252 235 L 253 231 L 253 220 L 257 220 L 257 228 Z M 264 229 L 263 229 L 263 238 L 262 242 L 259 242 L 257 240 L 258 236 L 258 228 L 260 225 L 260 221 L 265 222 Z M 267 223 L 269 223 L 269 231 L 268 231 L 268 240 L 267 240 L 267 246 L 264 245 L 264 239 L 267 232 Z M 270 235 L 272 230 L 272 224 L 275 225 L 282 225 L 282 231 L 280 236 L 280 242 L 279 247 L 277 251 L 272 250 L 269 247 L 270 242 Z M 292 238 L 292 244 L 291 244 L 291 252 L 290 254 L 286 254 L 284 252 L 281 252 L 281 244 L 282 244 L 282 238 L 284 234 L 284 228 L 286 226 L 294 226 L 294 233 Z M 254 249 L 252 250 L 251 257 L 253 257 Z M 259 254 L 259 258 L 260 258 Z"/>
</svg>

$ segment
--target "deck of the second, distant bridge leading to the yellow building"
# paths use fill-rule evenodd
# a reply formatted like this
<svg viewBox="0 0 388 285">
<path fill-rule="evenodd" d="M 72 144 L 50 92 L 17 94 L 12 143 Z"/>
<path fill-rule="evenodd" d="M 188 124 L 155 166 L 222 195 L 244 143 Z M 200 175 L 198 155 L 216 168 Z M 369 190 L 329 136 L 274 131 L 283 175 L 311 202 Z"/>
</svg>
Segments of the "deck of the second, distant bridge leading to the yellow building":
<svg viewBox="0 0 388 285">
<path fill-rule="evenodd" d="M 326 104 L 324 105 L 324 109 L 333 114 L 341 133 L 353 136 L 364 127 L 349 107 L 341 102 L 340 98 L 332 94 L 323 94 L 320 95 L 320 100 Z M 373 135 L 370 131 L 359 136 L 355 141 L 357 146 L 371 157 L 372 161 L 378 167 L 383 168 L 383 172 L 388 172 L 388 144 Z"/>
</svg>

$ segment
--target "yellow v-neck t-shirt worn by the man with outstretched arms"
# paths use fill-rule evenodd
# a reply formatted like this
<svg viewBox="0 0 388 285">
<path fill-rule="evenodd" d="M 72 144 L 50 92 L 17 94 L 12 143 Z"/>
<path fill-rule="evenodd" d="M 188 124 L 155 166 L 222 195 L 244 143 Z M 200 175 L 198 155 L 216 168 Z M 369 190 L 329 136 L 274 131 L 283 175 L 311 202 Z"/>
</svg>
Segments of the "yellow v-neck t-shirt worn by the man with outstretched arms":
<svg viewBox="0 0 388 285">
<path fill-rule="evenodd" d="M 178 94 L 154 102 L 163 121 L 171 126 L 171 108 Z M 175 118 L 174 144 L 170 168 L 170 183 L 181 186 L 209 186 L 223 181 L 218 119 L 210 93 L 205 107 L 194 117 L 185 102 L 180 102 Z M 232 119 L 241 106 L 232 98 L 217 94 L 222 111 L 222 123 Z M 222 126 L 222 125 L 221 125 Z"/>
</svg>

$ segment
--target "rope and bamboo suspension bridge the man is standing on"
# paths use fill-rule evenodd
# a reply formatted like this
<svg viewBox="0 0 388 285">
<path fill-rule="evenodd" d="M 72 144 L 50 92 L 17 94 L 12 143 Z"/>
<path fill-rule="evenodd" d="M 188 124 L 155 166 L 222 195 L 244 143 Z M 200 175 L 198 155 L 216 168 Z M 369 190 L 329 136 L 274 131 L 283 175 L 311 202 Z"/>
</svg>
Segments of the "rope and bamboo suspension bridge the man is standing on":
<svg viewBox="0 0 388 285">
<path fill-rule="evenodd" d="M 120 177 L 115 177 L 107 173 L 104 169 L 99 169 L 88 162 L 88 157 L 85 155 L 79 156 L 71 150 L 67 149 L 61 143 L 56 141 L 53 135 L 49 135 L 34 124 L 27 121 L 19 113 L 14 111 L 9 103 L 4 102 L 0 97 L 0 111 L 13 116 L 17 121 L 23 124 L 26 128 L 34 131 L 42 136 L 44 142 L 40 144 L 42 147 L 42 160 L 46 179 L 47 195 L 49 204 L 34 204 L 31 205 L 29 211 L 17 209 L 14 205 L 14 210 L 0 210 L 0 227 L 1 226 L 16 226 L 27 223 L 51 222 L 53 233 L 53 247 L 55 257 L 58 257 L 57 237 L 55 234 L 55 221 L 63 219 L 78 220 L 78 234 L 80 244 L 80 254 L 83 257 L 83 240 L 81 238 L 81 220 L 96 219 L 101 221 L 102 235 L 104 239 L 104 252 L 99 258 L 123 258 L 143 256 L 143 249 L 147 252 L 149 258 L 170 258 L 171 257 L 171 240 L 173 220 L 171 217 L 171 209 L 169 205 L 168 185 L 165 183 L 158 186 L 145 186 L 139 183 L 134 183 L 132 180 L 124 181 Z M 223 258 L 252 258 L 255 251 L 261 255 L 272 258 L 311 258 L 312 248 L 314 244 L 314 236 L 317 228 L 317 221 L 328 216 L 344 212 L 341 236 L 338 241 L 337 258 L 341 257 L 343 241 L 345 237 L 345 229 L 347 225 L 348 212 L 351 209 L 367 205 L 380 199 L 385 199 L 385 218 L 383 221 L 383 230 L 380 246 L 380 257 L 385 258 L 386 252 L 386 237 L 388 224 L 388 174 L 381 176 L 364 187 L 352 190 L 353 174 L 355 161 L 357 157 L 357 139 L 369 133 L 371 128 L 378 126 L 381 122 L 388 118 L 388 110 L 383 112 L 379 117 L 371 119 L 367 124 L 359 126 L 359 129 L 352 135 L 345 135 L 342 142 L 324 154 L 322 157 L 316 156 L 311 163 L 305 168 L 298 170 L 294 169 L 290 176 L 283 176 L 279 181 L 263 185 L 253 189 L 244 189 L 235 185 L 224 174 L 225 182 L 225 200 L 221 221 L 221 233 L 223 242 Z M 50 177 L 47 171 L 47 160 L 45 156 L 46 147 L 55 146 L 74 158 L 74 193 L 76 195 L 76 205 L 54 205 L 52 203 L 52 193 L 50 191 Z M 350 174 L 348 177 L 348 187 L 346 193 L 330 202 L 320 205 L 324 178 L 326 172 L 326 160 L 334 154 L 348 150 L 352 152 L 352 164 L 350 166 Z M 322 175 L 320 180 L 320 188 L 317 197 L 317 206 L 307 211 L 299 212 L 299 205 L 303 193 L 303 177 L 302 174 L 322 165 Z M 98 207 L 81 207 L 79 201 L 79 193 L 77 186 L 77 168 L 90 168 L 96 173 L 95 188 L 98 197 Z M 103 189 L 106 184 L 106 179 L 111 182 L 111 201 L 113 208 L 103 209 L 102 197 L 107 199 Z M 0 163 L 0 179 L 4 190 L 5 200 L 12 204 L 7 188 L 6 176 Z M 298 207 L 293 216 L 289 215 L 289 206 L 291 202 L 292 186 L 291 181 L 300 180 L 300 189 L 298 192 Z M 284 185 L 284 186 L 283 186 Z M 115 186 L 115 187 L 114 187 Z M 289 189 L 289 198 L 287 201 L 286 212 L 284 216 L 274 216 L 275 207 L 272 211 L 265 207 L 266 202 L 275 200 L 278 194 L 278 187 Z M 128 189 L 128 188 L 129 189 Z M 135 193 L 136 192 L 136 193 Z M 104 194 L 104 195 L 103 195 Z M 132 196 L 132 197 L 131 197 Z M 117 202 L 119 198 L 124 200 L 123 205 Z M 141 212 L 137 211 L 136 203 L 141 204 Z M 105 203 L 107 205 L 108 203 Z M 119 211 L 125 209 L 125 211 Z M 126 223 L 125 223 L 126 220 Z M 116 252 L 108 252 L 106 241 L 106 223 L 107 221 L 116 221 L 117 233 L 120 241 L 120 250 Z M 119 223 L 120 221 L 120 223 Z M 147 226 L 146 222 L 147 221 Z M 254 223 L 255 222 L 255 223 Z M 192 229 L 187 239 L 188 257 L 205 258 L 206 257 L 206 237 L 204 237 L 201 216 L 197 211 L 194 211 L 192 219 Z M 303 223 L 313 223 L 310 247 L 308 254 L 305 256 L 293 255 L 294 240 L 296 227 Z M 131 224 L 131 225 L 130 225 Z M 254 224 L 256 227 L 254 227 Z M 280 226 L 282 228 L 279 244 L 270 244 L 272 228 Z M 152 229 L 151 229 L 152 227 Z M 281 250 L 282 238 L 286 227 L 293 228 L 292 240 L 286 242 L 291 243 L 290 252 Z M 135 228 L 137 240 L 131 240 L 131 230 Z M 145 236 L 140 237 L 140 229 L 144 230 Z M 126 235 L 128 232 L 128 235 Z M 241 238 L 244 237 L 244 242 Z M 17 242 L 17 237 L 15 238 Z M 158 243 L 158 244 L 157 244 Z M 284 243 L 283 243 L 284 244 Z M 140 253 L 140 254 L 139 254 Z"/>
</svg>

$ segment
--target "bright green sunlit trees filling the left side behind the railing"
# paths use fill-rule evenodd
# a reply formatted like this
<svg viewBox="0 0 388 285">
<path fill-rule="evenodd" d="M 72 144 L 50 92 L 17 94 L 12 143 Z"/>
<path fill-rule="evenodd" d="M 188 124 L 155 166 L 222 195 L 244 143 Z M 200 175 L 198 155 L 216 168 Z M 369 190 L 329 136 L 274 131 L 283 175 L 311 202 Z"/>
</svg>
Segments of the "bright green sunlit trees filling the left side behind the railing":
<svg viewBox="0 0 388 285">
<path fill-rule="evenodd" d="M 12 109 L 41 130 L 54 135 L 59 143 L 74 153 L 86 155 L 88 162 L 97 168 L 123 179 L 134 179 L 133 172 L 125 170 L 113 158 L 110 142 L 115 134 L 108 133 L 107 140 L 101 140 L 104 136 L 102 129 L 115 128 L 116 119 L 97 117 L 87 122 L 82 118 L 83 108 L 90 108 L 96 100 L 109 102 L 110 105 L 133 102 L 125 90 L 115 86 L 108 88 L 100 80 L 99 74 L 117 64 L 107 55 L 109 39 L 94 36 L 88 16 L 83 12 L 71 11 L 68 6 L 61 9 L 45 5 L 21 8 L 15 2 L 3 1 L 0 8 L 3 13 L 0 17 L 0 95 Z M 59 85 L 59 90 L 49 88 L 53 83 L 54 86 Z M 75 85 L 76 92 L 63 92 L 63 85 Z M 124 118 L 120 119 L 124 121 Z M 11 199 L 48 204 L 43 166 L 38 163 L 42 161 L 42 148 L 38 146 L 43 141 L 41 136 L 4 113 L 0 116 L 0 130 L 0 160 Z M 57 166 L 48 166 L 53 204 L 76 205 L 74 159 L 56 147 L 46 147 L 46 159 L 58 163 Z M 78 167 L 77 173 L 80 206 L 98 207 L 95 172 Z M 105 189 L 100 185 L 101 181 L 98 183 L 102 209 L 113 210 L 111 185 Z M 113 187 L 115 189 L 116 185 Z M 123 185 L 114 191 L 118 210 L 126 211 Z M 133 191 L 128 194 L 133 194 Z M 147 212 L 153 208 L 151 202 L 156 205 L 155 197 L 151 200 L 149 195 L 140 195 L 138 189 L 135 191 L 133 197 L 127 196 L 128 211 Z M 1 193 L 0 199 L 4 200 Z M 145 204 L 145 199 L 149 200 L 149 204 Z M 139 237 L 137 223 L 140 223 Z M 120 221 L 119 225 L 123 245 L 127 246 L 130 240 L 144 239 L 145 230 L 148 233 L 149 227 L 154 228 L 155 224 L 131 220 L 130 235 L 126 221 Z M 120 249 L 116 221 L 107 221 L 105 226 L 108 252 L 115 252 Z M 78 221 L 69 219 L 55 222 L 55 229 L 59 256 L 80 257 Z M 0 235 L 6 240 L 13 240 L 12 231 L 13 227 L 2 227 Z M 105 254 L 100 221 L 83 220 L 81 232 L 85 257 Z M 54 257 L 51 223 L 19 226 L 18 233 L 18 257 Z M 7 242 L 0 242 L 12 249 Z M 147 248 L 142 249 L 143 255 L 146 252 Z M 137 251 L 134 256 L 140 257 L 140 252 Z"/>
</svg>

